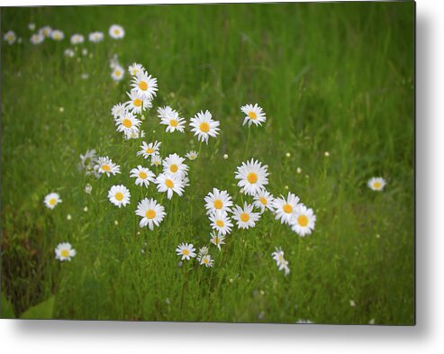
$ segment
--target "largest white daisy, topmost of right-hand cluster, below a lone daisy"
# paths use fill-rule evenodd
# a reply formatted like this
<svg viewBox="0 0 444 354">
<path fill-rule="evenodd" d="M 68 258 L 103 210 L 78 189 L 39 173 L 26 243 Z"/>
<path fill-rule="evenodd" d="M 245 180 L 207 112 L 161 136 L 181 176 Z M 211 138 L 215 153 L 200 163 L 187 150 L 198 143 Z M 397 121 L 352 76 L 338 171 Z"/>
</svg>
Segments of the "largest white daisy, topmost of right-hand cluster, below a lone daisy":
<svg viewBox="0 0 444 354">
<path fill-rule="evenodd" d="M 256 195 L 268 184 L 269 175 L 267 165 L 262 166 L 259 161 L 251 159 L 247 162 L 242 162 L 235 174 L 236 179 L 239 179 L 238 186 L 243 188 L 243 193 L 246 195 Z"/>
</svg>

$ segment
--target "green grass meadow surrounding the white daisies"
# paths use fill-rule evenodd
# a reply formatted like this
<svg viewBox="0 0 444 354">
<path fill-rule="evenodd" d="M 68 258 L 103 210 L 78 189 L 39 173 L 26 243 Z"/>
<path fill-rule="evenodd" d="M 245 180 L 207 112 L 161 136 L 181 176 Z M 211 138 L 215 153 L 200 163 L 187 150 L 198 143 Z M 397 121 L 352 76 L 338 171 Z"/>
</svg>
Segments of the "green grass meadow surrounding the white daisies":
<svg viewBox="0 0 444 354">
<path fill-rule="evenodd" d="M 2 292 L 15 316 L 55 295 L 54 318 L 414 322 L 412 2 L 2 8 L 1 22 L 23 38 L 3 41 L 1 62 Z M 30 22 L 68 38 L 106 38 L 79 46 L 93 58 L 77 50 L 67 59 L 68 39 L 33 46 Z M 125 28 L 122 41 L 107 36 L 113 23 Z M 134 214 L 142 196 L 161 199 L 129 177 L 146 165 L 135 155 L 140 141 L 122 141 L 110 115 L 130 84 L 128 75 L 111 80 L 114 53 L 159 79 L 146 141 L 162 139 L 159 105 L 186 118 L 208 109 L 221 121 L 198 166 L 187 162 L 185 196 L 163 198 L 168 215 L 155 231 L 139 229 Z M 234 171 L 248 128 L 240 105 L 256 102 L 267 123 L 251 129 L 248 156 L 268 165 L 272 194 L 288 186 L 313 208 L 315 231 L 299 238 L 265 213 L 253 230 L 234 228 L 222 252 L 210 246 L 214 268 L 177 267 L 177 243 L 209 244 L 204 195 L 215 186 L 241 203 Z M 166 136 L 162 148 L 184 155 L 199 144 L 188 131 Z M 122 175 L 80 173 L 88 149 L 110 156 Z M 374 176 L 388 181 L 383 193 L 367 188 Z M 114 184 L 131 190 L 122 210 L 106 197 Z M 50 211 L 42 201 L 52 191 L 63 203 Z M 54 259 L 61 241 L 77 250 L 71 262 Z M 271 259 L 276 246 L 288 277 Z"/>
</svg>

